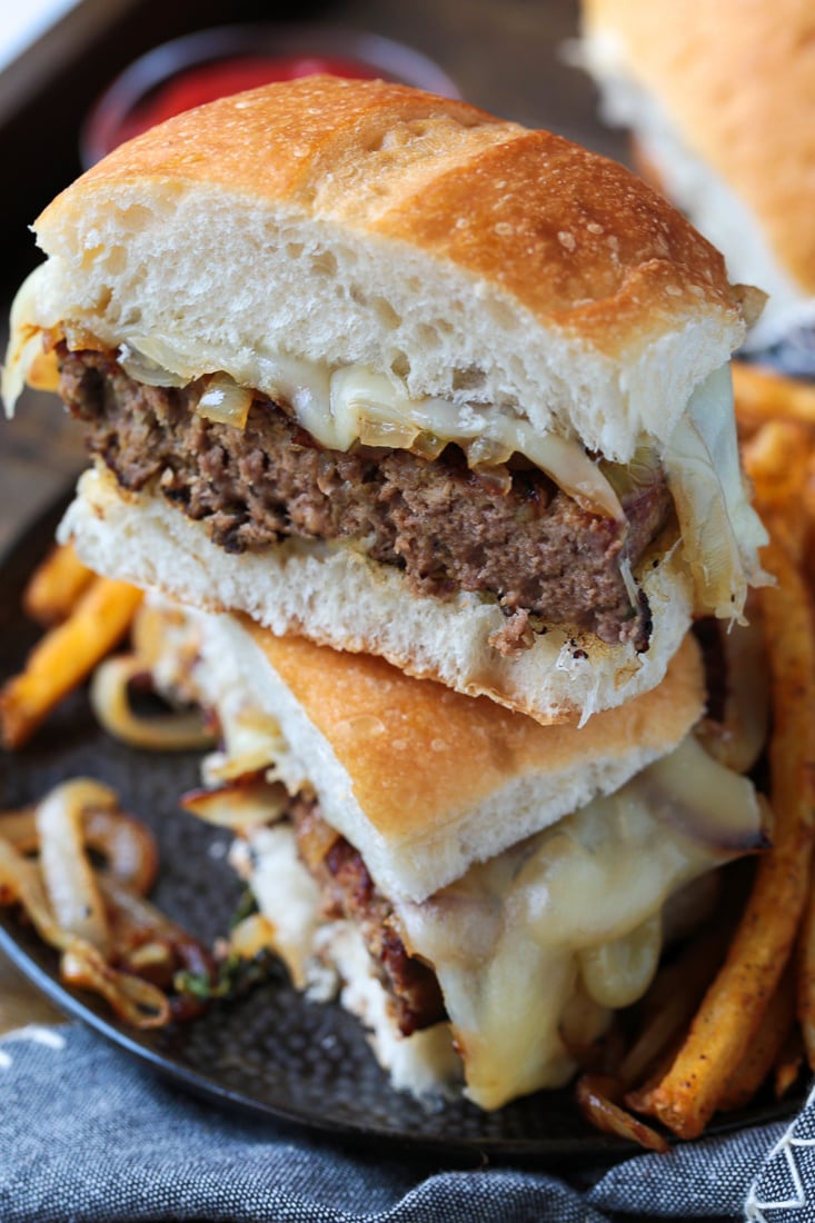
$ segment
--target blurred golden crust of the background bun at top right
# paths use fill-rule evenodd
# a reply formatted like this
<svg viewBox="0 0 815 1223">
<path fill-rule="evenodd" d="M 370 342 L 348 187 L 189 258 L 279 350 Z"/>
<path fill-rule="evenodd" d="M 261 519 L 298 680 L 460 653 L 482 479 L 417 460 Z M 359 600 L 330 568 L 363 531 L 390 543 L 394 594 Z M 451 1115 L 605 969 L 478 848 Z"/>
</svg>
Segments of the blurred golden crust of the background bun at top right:
<svg viewBox="0 0 815 1223">
<path fill-rule="evenodd" d="M 781 265 L 815 294 L 815 11 L 809 0 L 586 0 L 688 149 L 755 213 Z"/>
</svg>

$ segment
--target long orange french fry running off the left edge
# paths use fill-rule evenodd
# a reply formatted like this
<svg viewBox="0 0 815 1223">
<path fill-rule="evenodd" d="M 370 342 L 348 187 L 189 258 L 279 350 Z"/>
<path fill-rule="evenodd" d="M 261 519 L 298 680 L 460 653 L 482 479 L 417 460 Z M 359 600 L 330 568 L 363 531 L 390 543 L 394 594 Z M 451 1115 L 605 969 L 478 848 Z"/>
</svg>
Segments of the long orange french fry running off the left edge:
<svg viewBox="0 0 815 1223">
<path fill-rule="evenodd" d="M 22 747 L 51 709 L 127 632 L 142 592 L 97 577 L 69 619 L 51 629 L 20 675 L 0 690 L 0 740 Z"/>
</svg>

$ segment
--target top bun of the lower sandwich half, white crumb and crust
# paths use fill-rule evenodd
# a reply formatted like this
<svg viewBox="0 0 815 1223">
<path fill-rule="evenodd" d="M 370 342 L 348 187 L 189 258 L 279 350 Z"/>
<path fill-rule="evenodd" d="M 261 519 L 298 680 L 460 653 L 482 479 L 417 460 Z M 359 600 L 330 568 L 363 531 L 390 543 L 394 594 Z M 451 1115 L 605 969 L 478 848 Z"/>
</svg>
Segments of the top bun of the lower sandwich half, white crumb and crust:
<svg viewBox="0 0 815 1223">
<path fill-rule="evenodd" d="M 578 729 L 541 726 L 382 658 L 278 637 L 247 616 L 184 615 L 196 646 L 179 657 L 197 659 L 202 703 L 230 709 L 230 723 L 239 708 L 270 719 L 289 789 L 306 779 L 377 884 L 412 900 L 617 790 L 672 751 L 705 703 L 691 637 L 657 689 Z M 177 637 L 164 646 L 170 667 Z"/>
</svg>

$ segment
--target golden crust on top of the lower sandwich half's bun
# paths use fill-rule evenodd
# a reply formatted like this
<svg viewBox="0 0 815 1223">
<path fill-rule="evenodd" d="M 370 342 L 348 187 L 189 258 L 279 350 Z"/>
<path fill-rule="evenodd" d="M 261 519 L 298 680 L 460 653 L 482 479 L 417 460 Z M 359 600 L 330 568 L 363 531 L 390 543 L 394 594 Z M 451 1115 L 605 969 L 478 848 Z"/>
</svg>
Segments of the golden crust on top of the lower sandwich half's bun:
<svg viewBox="0 0 815 1223">
<path fill-rule="evenodd" d="M 640 767 L 674 747 L 702 712 L 701 662 L 690 637 L 657 689 L 579 730 L 541 726 L 487 697 L 414 680 L 382 658 L 277 637 L 247 618 L 242 624 L 345 768 L 373 828 L 395 841 L 455 819 L 524 775 L 545 786 L 547 778 L 554 784 L 575 767 L 617 756 Z"/>
</svg>

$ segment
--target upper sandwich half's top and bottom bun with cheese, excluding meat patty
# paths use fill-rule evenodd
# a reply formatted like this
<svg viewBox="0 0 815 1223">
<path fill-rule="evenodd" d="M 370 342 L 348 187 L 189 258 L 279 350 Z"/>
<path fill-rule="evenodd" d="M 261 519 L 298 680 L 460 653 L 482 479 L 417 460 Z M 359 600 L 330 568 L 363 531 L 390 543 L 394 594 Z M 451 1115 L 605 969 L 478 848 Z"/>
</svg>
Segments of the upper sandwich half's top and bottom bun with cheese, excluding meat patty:
<svg viewBox="0 0 815 1223">
<path fill-rule="evenodd" d="M 65 532 L 100 571 L 541 722 L 653 687 L 693 613 L 738 618 L 760 578 L 728 374 L 750 295 L 655 192 L 557 136 L 383 82 L 269 86 L 116 149 L 37 234 L 48 259 L 17 301 L 10 396 L 47 334 L 151 385 L 226 377 L 333 454 L 442 439 L 476 466 L 520 456 L 601 527 L 623 521 L 616 487 L 635 472 L 673 503 L 636 564 L 627 528 L 613 559 L 647 648 L 543 613 L 507 642 L 504 588 L 417 591 L 362 538 L 236 556 L 158 477 L 83 482 Z M 575 541 L 564 575 L 579 555 Z"/>
</svg>

